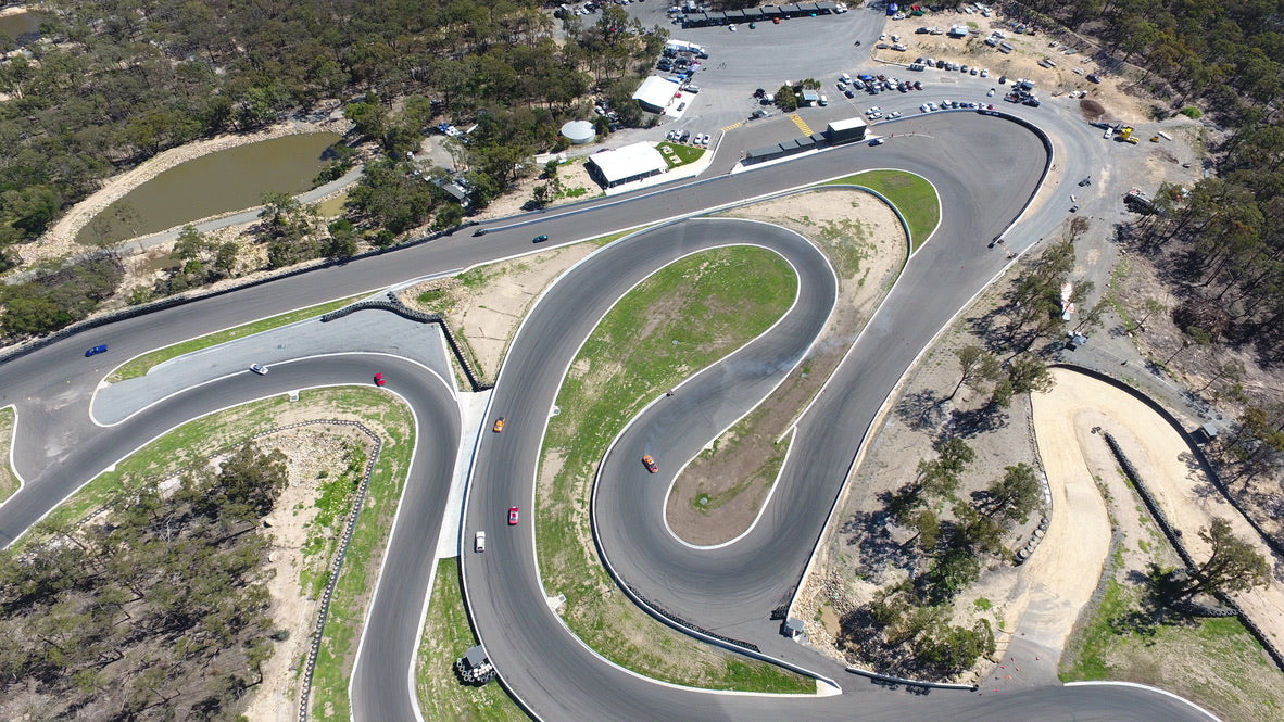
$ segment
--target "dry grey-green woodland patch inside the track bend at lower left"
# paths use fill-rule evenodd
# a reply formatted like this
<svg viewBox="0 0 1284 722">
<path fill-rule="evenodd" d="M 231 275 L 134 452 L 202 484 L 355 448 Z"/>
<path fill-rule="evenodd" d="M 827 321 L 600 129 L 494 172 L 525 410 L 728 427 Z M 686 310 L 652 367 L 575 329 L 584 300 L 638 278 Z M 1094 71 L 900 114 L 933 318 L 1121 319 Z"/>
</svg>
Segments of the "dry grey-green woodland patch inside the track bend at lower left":
<svg viewBox="0 0 1284 722">
<path fill-rule="evenodd" d="M 276 635 L 261 519 L 286 482 L 247 444 L 0 553 L 0 717 L 243 719 Z"/>
</svg>

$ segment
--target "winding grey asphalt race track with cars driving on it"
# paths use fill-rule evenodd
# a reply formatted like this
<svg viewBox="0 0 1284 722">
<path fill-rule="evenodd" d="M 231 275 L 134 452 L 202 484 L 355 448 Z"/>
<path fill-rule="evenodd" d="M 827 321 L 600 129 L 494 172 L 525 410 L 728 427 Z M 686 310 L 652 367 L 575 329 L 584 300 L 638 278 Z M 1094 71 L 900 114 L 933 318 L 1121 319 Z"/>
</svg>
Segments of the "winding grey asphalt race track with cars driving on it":
<svg viewBox="0 0 1284 722">
<path fill-rule="evenodd" d="M 1022 112 L 1023 110 L 1019 110 Z M 1066 177 L 1098 169 L 1082 124 L 1048 117 Z M 1089 128 L 1090 130 L 1090 128 Z M 532 250 L 539 233 L 569 242 L 618 228 L 693 214 L 868 168 L 901 168 L 937 189 L 941 226 L 908 263 L 896 289 L 824 394 L 799 424 L 781 489 L 758 526 L 737 544 L 696 550 L 664 530 L 666 481 L 722 428 L 760 401 L 823 326 L 833 277 L 819 254 L 796 236 L 764 224 L 687 221 L 660 226 L 607 246 L 569 272 L 537 304 L 499 374 L 488 417 L 508 417 L 502 435 L 483 433 L 474 457 L 464 539 L 487 530 L 485 554 L 464 554 L 465 589 L 475 628 L 505 686 L 528 710 L 553 721 L 1059 721 L 1206 719 L 1192 707 L 1153 691 L 1117 687 L 1032 687 L 998 695 L 937 690 L 908 695 L 881 690 L 786 642 L 768 619 L 802 575 L 871 419 L 918 351 L 972 295 L 1008 263 L 990 239 L 1021 213 L 1037 190 L 1046 158 L 1041 141 L 1009 121 L 976 113 L 936 113 L 895 124 L 896 137 L 824 151 L 736 176 L 677 189 L 596 200 L 487 224 L 484 236 L 457 233 L 412 249 L 351 262 L 248 290 L 203 299 L 72 336 L 0 364 L 0 407 L 15 404 L 13 460 L 24 487 L 0 505 L 0 544 L 21 535 L 80 485 L 148 440 L 190 418 L 293 389 L 369 383 L 374 371 L 393 380 L 419 421 L 406 496 L 393 530 L 385 573 L 371 609 L 352 681 L 354 718 L 413 721 L 411 664 L 431 573 L 431 542 L 446 504 L 461 439 L 456 405 L 425 367 L 370 349 L 330 354 L 299 342 L 299 360 L 193 380 L 191 389 L 103 427 L 90 419 L 94 390 L 123 360 L 189 337 L 293 308 L 376 291 L 411 278 L 462 269 Z M 1052 162 L 1049 162 L 1050 164 Z M 1041 205 L 1040 205 L 1041 204 Z M 1036 204 L 1008 248 L 1023 250 L 1064 219 L 1064 209 Z M 550 610 L 537 577 L 533 525 L 505 526 L 511 505 L 529 509 L 544 424 L 562 374 L 583 339 L 615 299 L 674 258 L 698 249 L 754 242 L 787 258 L 800 276 L 799 301 L 770 332 L 661 398 L 616 441 L 603 462 L 594 498 L 600 549 L 647 599 L 693 623 L 759 644 L 765 653 L 836 678 L 833 696 L 727 695 L 657 685 L 605 663 L 580 645 Z M 375 321 L 371 321 L 375 323 Z M 110 351 L 83 358 L 109 344 Z M 252 360 L 252 359 L 247 359 Z M 181 365 L 181 364 L 180 364 Z M 177 371 L 176 371 L 177 372 Z M 167 372 L 169 373 L 169 372 Z M 636 482 L 651 453 L 664 480 Z M 634 513 L 625 513 L 632 509 Z M 638 509 L 645 513 L 638 513 Z M 529 516 L 529 513 L 528 513 Z"/>
</svg>

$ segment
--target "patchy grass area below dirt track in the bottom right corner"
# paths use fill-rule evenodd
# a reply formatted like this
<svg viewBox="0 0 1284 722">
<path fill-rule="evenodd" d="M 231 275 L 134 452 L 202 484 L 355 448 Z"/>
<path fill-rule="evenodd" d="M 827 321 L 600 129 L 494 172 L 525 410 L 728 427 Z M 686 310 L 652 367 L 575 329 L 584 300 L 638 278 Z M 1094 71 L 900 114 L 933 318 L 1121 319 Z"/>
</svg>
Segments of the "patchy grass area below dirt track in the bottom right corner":
<svg viewBox="0 0 1284 722">
<path fill-rule="evenodd" d="M 1234 617 L 1165 625 L 1145 609 L 1143 590 L 1111 580 L 1079 634 L 1066 682 L 1122 680 L 1181 695 L 1221 719 L 1279 719 L 1284 673 Z"/>
</svg>

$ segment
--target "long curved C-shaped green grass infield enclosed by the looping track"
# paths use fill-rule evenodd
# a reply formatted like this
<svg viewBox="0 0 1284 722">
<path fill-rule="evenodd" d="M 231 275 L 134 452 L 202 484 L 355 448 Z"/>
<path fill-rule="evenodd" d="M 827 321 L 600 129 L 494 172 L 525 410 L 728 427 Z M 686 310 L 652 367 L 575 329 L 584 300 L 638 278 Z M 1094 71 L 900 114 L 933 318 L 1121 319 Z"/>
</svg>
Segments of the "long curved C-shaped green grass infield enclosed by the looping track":
<svg viewBox="0 0 1284 722">
<path fill-rule="evenodd" d="M 548 594 L 565 595 L 561 614 L 575 635 L 621 667 L 706 689 L 815 691 L 814 680 L 648 617 L 606 573 L 588 518 L 597 463 L 625 423 L 665 389 L 770 327 L 796 294 L 797 276 L 774 253 L 747 246 L 698 253 L 624 296 L 571 364 L 541 464 L 551 478 L 541 478 L 535 513 L 539 569 Z"/>
</svg>

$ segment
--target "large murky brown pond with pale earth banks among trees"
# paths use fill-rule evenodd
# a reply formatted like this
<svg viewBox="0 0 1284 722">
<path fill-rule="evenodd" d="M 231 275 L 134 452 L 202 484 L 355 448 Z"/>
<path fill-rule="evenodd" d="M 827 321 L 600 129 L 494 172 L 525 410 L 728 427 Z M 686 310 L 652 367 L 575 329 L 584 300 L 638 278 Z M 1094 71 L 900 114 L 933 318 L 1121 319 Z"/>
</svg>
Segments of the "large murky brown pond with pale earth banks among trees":
<svg viewBox="0 0 1284 722">
<path fill-rule="evenodd" d="M 299 194 L 326 167 L 338 133 L 270 139 L 176 165 L 107 206 L 76 236 L 100 246 L 263 203 L 263 194 Z"/>
</svg>

